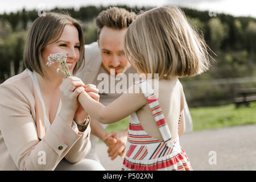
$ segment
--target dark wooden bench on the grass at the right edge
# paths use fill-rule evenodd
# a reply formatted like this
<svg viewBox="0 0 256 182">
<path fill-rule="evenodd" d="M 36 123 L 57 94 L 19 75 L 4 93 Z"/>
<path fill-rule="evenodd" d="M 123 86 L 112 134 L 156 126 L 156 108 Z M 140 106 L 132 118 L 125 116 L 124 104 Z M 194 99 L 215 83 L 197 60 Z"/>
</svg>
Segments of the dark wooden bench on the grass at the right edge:
<svg viewBox="0 0 256 182">
<path fill-rule="evenodd" d="M 256 101 L 256 88 L 237 89 L 234 104 L 239 107 L 241 104 L 249 107 L 250 102 Z"/>
</svg>

